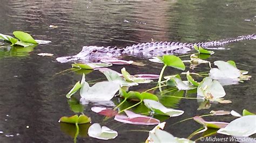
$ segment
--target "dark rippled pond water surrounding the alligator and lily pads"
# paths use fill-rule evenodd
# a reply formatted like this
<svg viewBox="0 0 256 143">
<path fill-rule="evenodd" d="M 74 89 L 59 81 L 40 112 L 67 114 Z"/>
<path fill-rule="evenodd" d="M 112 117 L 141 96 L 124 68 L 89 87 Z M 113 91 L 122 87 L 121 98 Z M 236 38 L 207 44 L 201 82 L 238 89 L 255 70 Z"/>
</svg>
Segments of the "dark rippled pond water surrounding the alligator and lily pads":
<svg viewBox="0 0 256 143">
<path fill-rule="evenodd" d="M 256 32 L 256 2 L 252 1 L 1 1 L 0 33 L 29 32 L 35 39 L 51 40 L 39 45 L 27 56 L 16 57 L 0 49 L 0 142 L 72 142 L 68 134 L 60 130 L 58 120 L 72 116 L 65 94 L 81 75 L 70 73 L 54 76 L 70 68 L 70 63 L 60 64 L 58 56 L 78 53 L 82 46 L 119 46 L 138 42 L 181 41 L 198 42 L 237 37 Z M 49 25 L 58 28 L 50 29 Z M 2 41 L 1 41 L 2 42 Z M 167 119 L 165 131 L 176 137 L 188 137 L 200 125 L 187 121 L 173 125 L 181 119 L 203 115 L 211 110 L 247 109 L 256 112 L 256 40 L 225 45 L 228 51 L 215 51 L 210 59 L 235 60 L 240 69 L 250 71 L 252 79 L 239 85 L 225 87 L 226 99 L 231 104 L 212 104 L 210 109 L 197 111 L 195 100 L 182 99 L 178 109 L 183 116 Z M 53 53 L 53 57 L 39 57 L 37 53 Z M 147 60 L 142 60 L 149 63 Z M 120 71 L 123 66 L 113 66 Z M 149 63 L 146 67 L 125 66 L 131 74 L 159 74 L 161 65 Z M 167 73 L 169 72 L 169 73 Z M 166 74 L 174 74 L 167 70 Z M 98 71 L 87 75 L 86 80 L 104 77 Z M 154 85 L 132 88 L 146 90 Z M 78 96 L 77 96 L 78 97 Z M 117 102 L 118 99 L 114 99 Z M 107 142 L 143 142 L 146 132 L 153 126 L 121 124 L 90 110 L 92 103 L 84 107 L 84 113 L 93 123 L 107 125 L 118 131 L 118 137 Z M 211 118 L 206 118 L 211 119 Z M 223 116 L 214 119 L 230 121 Z M 27 128 L 26 126 L 29 126 Z M 14 137 L 6 137 L 6 135 Z M 222 137 L 222 136 L 221 136 Z M 255 138 L 255 135 L 254 135 Z M 78 142 L 102 142 L 93 138 L 81 138 Z"/>
</svg>

